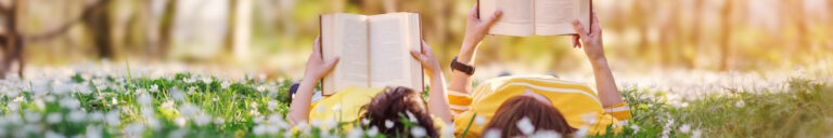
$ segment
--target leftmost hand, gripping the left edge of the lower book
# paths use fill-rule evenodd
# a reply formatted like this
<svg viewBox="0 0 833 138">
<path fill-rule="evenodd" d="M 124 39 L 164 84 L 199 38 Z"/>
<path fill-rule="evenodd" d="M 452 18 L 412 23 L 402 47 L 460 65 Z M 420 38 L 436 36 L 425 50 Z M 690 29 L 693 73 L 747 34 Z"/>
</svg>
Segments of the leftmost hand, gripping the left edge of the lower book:
<svg viewBox="0 0 833 138">
<path fill-rule="evenodd" d="M 316 38 L 316 44 L 312 49 L 312 53 L 309 54 L 307 59 L 307 67 L 304 69 L 304 80 L 319 80 L 330 73 L 338 63 L 339 57 L 333 57 L 332 59 L 324 60 L 321 56 L 321 37 Z"/>
</svg>

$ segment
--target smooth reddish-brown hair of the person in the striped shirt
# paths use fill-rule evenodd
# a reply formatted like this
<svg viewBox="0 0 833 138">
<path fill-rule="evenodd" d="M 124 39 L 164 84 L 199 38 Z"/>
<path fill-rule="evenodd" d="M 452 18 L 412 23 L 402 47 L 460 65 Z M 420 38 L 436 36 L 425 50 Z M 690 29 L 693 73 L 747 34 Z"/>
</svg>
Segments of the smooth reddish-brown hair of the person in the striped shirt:
<svg viewBox="0 0 833 138">
<path fill-rule="evenodd" d="M 569 136 L 576 130 L 567 124 L 555 107 L 529 96 L 515 96 L 503 101 L 485 130 L 497 129 L 503 138 L 523 136 L 516 123 L 524 118 L 529 119 L 535 132 L 555 130 L 563 136 Z"/>
</svg>

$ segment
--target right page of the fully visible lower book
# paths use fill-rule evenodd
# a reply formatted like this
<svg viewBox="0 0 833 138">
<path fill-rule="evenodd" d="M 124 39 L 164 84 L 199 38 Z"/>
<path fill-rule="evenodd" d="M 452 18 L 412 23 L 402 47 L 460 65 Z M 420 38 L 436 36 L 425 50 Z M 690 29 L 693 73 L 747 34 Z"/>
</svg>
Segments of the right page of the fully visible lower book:
<svg viewBox="0 0 833 138">
<path fill-rule="evenodd" d="M 370 20 L 370 86 L 411 88 L 409 29 L 402 13 L 374 15 Z"/>
</svg>

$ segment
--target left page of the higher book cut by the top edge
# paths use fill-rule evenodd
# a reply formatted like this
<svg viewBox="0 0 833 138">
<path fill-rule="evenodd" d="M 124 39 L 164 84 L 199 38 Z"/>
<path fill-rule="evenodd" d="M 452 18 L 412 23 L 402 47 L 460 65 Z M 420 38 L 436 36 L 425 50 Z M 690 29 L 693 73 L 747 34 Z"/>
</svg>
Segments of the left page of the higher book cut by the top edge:
<svg viewBox="0 0 833 138">
<path fill-rule="evenodd" d="M 480 0 L 479 17 L 485 19 L 498 9 L 503 16 L 489 29 L 490 34 L 530 36 L 535 32 L 534 0 Z"/>
</svg>

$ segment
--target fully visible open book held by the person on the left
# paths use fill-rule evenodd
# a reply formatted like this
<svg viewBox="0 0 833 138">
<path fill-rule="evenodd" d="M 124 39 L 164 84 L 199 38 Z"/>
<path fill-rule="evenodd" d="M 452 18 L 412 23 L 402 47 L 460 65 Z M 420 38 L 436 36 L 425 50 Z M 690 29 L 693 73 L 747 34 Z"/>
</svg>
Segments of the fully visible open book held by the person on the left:
<svg viewBox="0 0 833 138">
<path fill-rule="evenodd" d="M 322 94 L 348 86 L 406 86 L 423 89 L 422 65 L 410 51 L 422 50 L 420 14 L 321 15 L 321 55 L 339 56 L 322 81 Z"/>
</svg>

